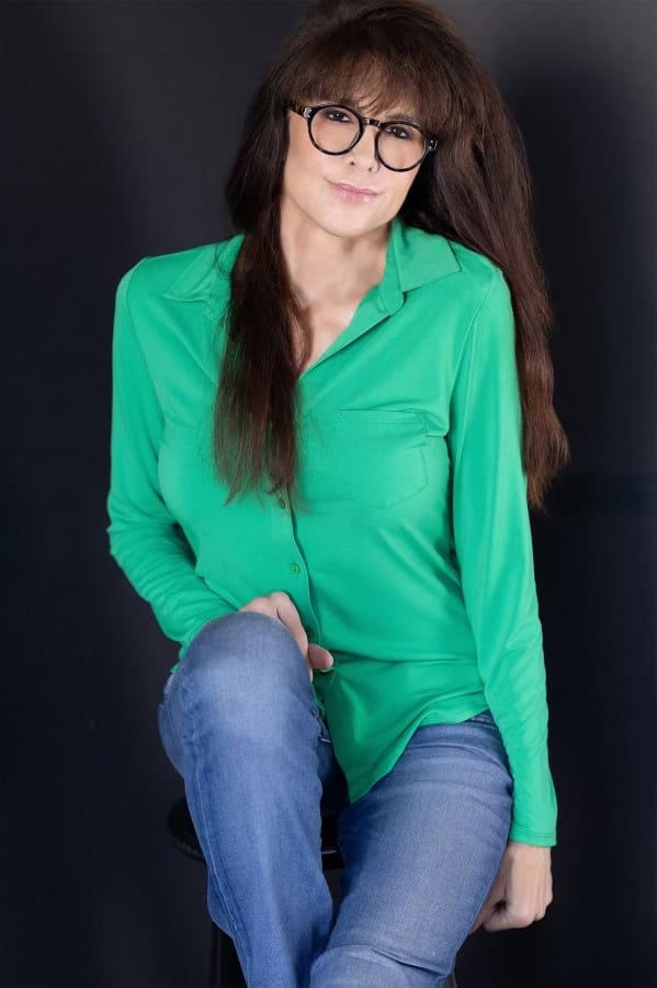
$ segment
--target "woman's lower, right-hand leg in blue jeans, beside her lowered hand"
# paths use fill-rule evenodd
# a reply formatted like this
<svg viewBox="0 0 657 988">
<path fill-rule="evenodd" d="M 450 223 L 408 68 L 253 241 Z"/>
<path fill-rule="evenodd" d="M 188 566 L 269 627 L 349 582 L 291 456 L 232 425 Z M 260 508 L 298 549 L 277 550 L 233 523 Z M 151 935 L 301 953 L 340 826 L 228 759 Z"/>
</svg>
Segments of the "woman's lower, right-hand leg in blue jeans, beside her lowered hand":
<svg viewBox="0 0 657 988">
<path fill-rule="evenodd" d="M 310 988 L 441 988 L 499 871 L 512 789 L 489 711 L 420 727 L 340 816 L 343 897 Z"/>
</svg>

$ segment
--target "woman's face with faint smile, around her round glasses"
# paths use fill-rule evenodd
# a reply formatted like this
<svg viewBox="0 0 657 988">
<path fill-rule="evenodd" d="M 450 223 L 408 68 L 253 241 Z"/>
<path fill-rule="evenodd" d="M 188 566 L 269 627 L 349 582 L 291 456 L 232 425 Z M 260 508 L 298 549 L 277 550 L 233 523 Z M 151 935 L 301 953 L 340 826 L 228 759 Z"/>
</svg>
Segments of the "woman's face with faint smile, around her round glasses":
<svg viewBox="0 0 657 988">
<path fill-rule="evenodd" d="M 395 105 L 380 114 L 390 120 L 412 116 L 412 108 Z M 343 155 L 327 155 L 315 147 L 307 121 L 287 112 L 290 145 L 283 171 L 282 210 L 301 212 L 327 233 L 354 237 L 386 224 L 404 203 L 420 166 L 410 171 L 392 171 L 376 160 L 376 127 L 365 126 L 358 144 Z M 350 197 L 336 188 L 347 183 L 371 189 L 374 195 Z"/>
</svg>

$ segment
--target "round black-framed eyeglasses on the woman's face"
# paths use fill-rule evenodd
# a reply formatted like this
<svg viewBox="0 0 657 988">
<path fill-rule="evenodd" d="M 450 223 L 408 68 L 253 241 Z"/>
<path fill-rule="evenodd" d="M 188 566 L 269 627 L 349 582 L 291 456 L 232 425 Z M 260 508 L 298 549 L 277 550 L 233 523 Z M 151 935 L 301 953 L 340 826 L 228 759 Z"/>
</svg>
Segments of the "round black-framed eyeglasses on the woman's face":
<svg viewBox="0 0 657 988">
<path fill-rule="evenodd" d="M 351 106 L 335 103 L 321 103 L 319 106 L 288 103 L 288 109 L 306 119 L 310 141 L 325 155 L 346 155 L 359 143 L 366 124 L 377 128 L 375 154 L 381 164 L 392 171 L 417 168 L 438 147 L 437 137 L 404 120 L 374 120 L 373 116 L 361 116 Z"/>
</svg>

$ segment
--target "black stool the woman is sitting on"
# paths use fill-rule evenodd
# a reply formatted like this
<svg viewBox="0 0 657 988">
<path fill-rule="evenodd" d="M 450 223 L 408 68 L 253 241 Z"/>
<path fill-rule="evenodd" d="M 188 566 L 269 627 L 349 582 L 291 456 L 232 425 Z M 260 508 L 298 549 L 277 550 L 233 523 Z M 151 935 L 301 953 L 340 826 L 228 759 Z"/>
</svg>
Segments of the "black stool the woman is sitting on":
<svg viewBox="0 0 657 988">
<path fill-rule="evenodd" d="M 173 838 L 173 843 L 183 854 L 193 857 L 194 861 L 205 863 L 184 796 L 169 810 L 167 828 Z M 338 816 L 333 813 L 321 815 L 321 866 L 325 872 L 344 867 L 338 845 Z M 213 922 L 211 923 L 207 975 L 209 988 L 217 984 L 218 968 L 219 988 L 246 988 L 247 983 L 233 938 Z M 445 980 L 444 988 L 458 988 L 455 970 Z"/>
</svg>

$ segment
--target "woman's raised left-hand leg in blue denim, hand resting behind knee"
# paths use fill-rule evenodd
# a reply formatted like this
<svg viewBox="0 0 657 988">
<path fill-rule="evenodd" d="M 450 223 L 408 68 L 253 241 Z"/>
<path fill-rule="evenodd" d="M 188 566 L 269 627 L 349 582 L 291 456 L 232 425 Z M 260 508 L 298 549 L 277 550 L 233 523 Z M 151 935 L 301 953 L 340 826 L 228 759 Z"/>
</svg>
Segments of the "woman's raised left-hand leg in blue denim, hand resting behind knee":
<svg viewBox="0 0 657 988">
<path fill-rule="evenodd" d="M 167 682 L 159 725 L 207 863 L 209 914 L 247 984 L 305 985 L 333 919 L 320 804 L 341 773 L 294 638 L 253 611 L 211 621 Z"/>
</svg>

